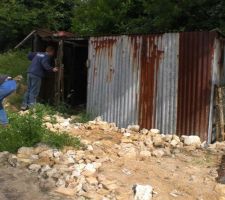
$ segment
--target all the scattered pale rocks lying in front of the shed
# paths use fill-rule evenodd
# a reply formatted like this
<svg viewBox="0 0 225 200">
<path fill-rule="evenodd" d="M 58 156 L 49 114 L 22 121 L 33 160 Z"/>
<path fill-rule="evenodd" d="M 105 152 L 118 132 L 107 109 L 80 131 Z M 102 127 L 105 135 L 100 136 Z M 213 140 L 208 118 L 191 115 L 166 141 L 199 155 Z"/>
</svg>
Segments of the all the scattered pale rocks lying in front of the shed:
<svg viewBox="0 0 225 200">
<path fill-rule="evenodd" d="M 51 117 L 45 118 L 45 125 L 52 131 L 70 131 L 74 128 L 113 131 L 120 136 L 120 143 L 111 142 L 111 145 L 104 146 L 104 141 L 86 140 L 87 148 L 83 150 L 58 150 L 39 144 L 36 147 L 22 147 L 16 155 L 2 152 L 0 162 L 5 161 L 13 167 L 25 167 L 37 174 L 42 189 L 76 199 L 118 199 L 119 183 L 100 173 L 102 165 L 112 163 L 114 158 L 146 160 L 152 157 L 173 157 L 181 151 L 207 150 L 219 153 L 225 150 L 225 143 L 207 145 L 194 135 L 164 135 L 158 129 L 140 130 L 138 125 L 119 129 L 114 123 L 104 122 L 101 118 L 85 124 L 74 124 L 72 118 L 64 119 L 57 115 L 54 118 L 56 123 L 51 122 Z M 151 186 L 138 186 L 136 189 L 135 199 L 152 198 Z"/>
</svg>

